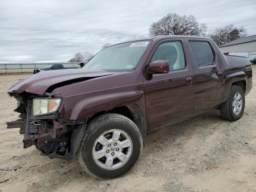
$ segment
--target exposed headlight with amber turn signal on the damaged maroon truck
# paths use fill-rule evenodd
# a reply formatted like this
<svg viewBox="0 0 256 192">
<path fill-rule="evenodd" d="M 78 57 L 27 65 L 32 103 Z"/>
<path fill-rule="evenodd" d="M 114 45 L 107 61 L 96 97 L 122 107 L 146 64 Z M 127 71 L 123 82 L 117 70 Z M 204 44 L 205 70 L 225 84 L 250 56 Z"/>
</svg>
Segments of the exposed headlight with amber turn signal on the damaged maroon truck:
<svg viewBox="0 0 256 192">
<path fill-rule="evenodd" d="M 61 104 L 61 98 L 34 98 L 33 116 L 46 115 L 56 112 Z"/>
</svg>

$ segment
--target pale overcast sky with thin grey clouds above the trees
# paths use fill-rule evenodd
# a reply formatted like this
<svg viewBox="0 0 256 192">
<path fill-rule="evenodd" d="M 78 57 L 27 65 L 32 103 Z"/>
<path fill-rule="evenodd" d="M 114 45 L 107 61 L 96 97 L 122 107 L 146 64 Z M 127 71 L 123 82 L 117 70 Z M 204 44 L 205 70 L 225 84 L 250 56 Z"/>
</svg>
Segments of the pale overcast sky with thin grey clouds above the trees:
<svg viewBox="0 0 256 192">
<path fill-rule="evenodd" d="M 148 36 L 168 13 L 193 15 L 208 30 L 228 24 L 256 35 L 255 0 L 0 0 L 0 63 L 67 62 L 104 43 Z"/>
</svg>

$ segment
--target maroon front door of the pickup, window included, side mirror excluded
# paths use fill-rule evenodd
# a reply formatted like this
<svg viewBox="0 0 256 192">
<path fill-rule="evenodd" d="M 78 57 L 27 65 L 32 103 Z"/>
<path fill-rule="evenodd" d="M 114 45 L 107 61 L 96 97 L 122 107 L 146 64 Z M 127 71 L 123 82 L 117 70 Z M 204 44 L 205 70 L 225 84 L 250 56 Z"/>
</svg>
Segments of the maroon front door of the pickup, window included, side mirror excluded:
<svg viewBox="0 0 256 192">
<path fill-rule="evenodd" d="M 150 130 L 160 128 L 194 113 L 194 71 L 183 38 L 165 39 L 156 44 L 147 64 L 168 60 L 168 74 L 146 74 L 143 80 L 146 114 Z"/>
</svg>

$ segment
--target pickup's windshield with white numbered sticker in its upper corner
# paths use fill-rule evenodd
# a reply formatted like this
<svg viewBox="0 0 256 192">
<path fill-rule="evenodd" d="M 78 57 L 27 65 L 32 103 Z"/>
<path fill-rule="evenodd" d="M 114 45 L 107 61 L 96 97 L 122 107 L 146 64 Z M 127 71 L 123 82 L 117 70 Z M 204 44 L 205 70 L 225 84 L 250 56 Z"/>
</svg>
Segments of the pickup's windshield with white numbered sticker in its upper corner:
<svg viewBox="0 0 256 192">
<path fill-rule="evenodd" d="M 138 41 L 107 47 L 96 54 L 82 69 L 132 71 L 149 44 L 150 41 Z"/>
</svg>

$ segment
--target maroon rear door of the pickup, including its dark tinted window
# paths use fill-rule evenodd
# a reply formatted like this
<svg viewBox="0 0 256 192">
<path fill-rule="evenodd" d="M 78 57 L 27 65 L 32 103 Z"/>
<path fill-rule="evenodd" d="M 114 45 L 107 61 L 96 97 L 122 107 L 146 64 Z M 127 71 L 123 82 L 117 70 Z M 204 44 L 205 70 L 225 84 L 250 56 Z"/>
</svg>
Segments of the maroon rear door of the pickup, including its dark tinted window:
<svg viewBox="0 0 256 192">
<path fill-rule="evenodd" d="M 220 103 L 224 86 L 223 69 L 218 63 L 218 52 L 207 39 L 188 39 L 195 73 L 195 115 L 212 110 Z"/>
</svg>

